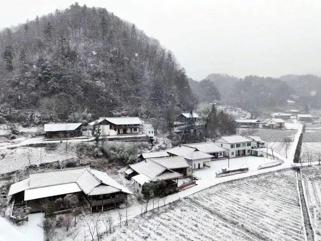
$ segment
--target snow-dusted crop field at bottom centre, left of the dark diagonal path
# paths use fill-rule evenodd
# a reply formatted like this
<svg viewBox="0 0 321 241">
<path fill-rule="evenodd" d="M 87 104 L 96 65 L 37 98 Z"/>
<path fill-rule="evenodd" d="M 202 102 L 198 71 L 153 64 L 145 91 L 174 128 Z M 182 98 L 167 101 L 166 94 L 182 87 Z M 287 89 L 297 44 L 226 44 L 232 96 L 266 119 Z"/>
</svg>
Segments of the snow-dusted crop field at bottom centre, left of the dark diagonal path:
<svg viewBox="0 0 321 241">
<path fill-rule="evenodd" d="M 106 238 L 106 237 L 104 237 Z M 162 211 L 134 218 L 129 226 L 117 230 L 108 240 L 253 240 L 246 234 L 213 218 L 184 201 L 167 205 Z M 111 239 L 110 239 L 111 238 Z M 106 239 L 107 240 L 107 239 Z"/>
</svg>

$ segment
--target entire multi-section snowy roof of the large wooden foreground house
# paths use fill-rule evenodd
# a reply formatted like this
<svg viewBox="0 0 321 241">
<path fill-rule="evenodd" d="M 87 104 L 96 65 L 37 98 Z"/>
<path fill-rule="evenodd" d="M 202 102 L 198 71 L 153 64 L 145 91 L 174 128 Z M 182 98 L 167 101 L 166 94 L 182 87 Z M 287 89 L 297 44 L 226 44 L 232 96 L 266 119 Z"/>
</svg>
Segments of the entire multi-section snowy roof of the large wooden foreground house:
<svg viewBox="0 0 321 241">
<path fill-rule="evenodd" d="M 117 191 L 133 194 L 107 173 L 91 170 L 89 166 L 31 172 L 28 179 L 11 185 L 9 193 L 12 195 L 22 190 L 25 190 L 25 200 L 79 191 L 88 195 Z"/>
</svg>

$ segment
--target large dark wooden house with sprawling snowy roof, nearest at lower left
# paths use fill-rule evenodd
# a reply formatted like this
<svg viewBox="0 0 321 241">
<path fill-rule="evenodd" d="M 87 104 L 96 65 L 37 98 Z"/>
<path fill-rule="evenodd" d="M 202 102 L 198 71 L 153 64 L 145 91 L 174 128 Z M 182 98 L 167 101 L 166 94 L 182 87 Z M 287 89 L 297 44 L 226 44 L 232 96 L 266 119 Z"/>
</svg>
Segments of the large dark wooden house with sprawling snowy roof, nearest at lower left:
<svg viewBox="0 0 321 241">
<path fill-rule="evenodd" d="M 106 173 L 89 166 L 30 172 L 29 178 L 11 185 L 8 196 L 15 202 L 25 202 L 31 212 L 40 212 L 41 199 L 56 200 L 74 193 L 85 209 L 103 211 L 116 209 L 133 193 Z"/>
</svg>

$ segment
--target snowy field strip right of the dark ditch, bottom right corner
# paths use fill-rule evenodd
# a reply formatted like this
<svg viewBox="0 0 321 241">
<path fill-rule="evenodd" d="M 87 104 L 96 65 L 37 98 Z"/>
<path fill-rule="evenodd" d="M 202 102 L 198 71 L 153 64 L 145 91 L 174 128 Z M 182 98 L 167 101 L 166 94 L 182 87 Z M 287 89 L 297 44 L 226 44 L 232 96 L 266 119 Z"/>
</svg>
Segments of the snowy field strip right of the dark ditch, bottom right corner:
<svg viewBox="0 0 321 241">
<path fill-rule="evenodd" d="M 306 180 L 302 185 L 315 241 L 321 241 L 321 167 L 302 168 L 301 173 L 302 179 Z"/>
</svg>

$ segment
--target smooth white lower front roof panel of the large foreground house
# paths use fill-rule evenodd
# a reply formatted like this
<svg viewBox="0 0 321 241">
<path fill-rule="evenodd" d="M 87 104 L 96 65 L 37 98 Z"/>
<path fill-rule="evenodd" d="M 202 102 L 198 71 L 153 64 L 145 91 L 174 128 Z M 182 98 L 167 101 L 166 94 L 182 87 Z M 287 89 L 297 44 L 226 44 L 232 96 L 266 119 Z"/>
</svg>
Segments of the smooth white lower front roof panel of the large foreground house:
<svg viewBox="0 0 321 241">
<path fill-rule="evenodd" d="M 80 192 L 81 189 L 77 183 L 66 183 L 42 188 L 29 189 L 24 191 L 24 200 L 33 200 L 38 198 L 47 198 L 67 193 Z"/>
</svg>

